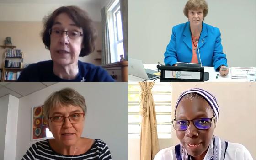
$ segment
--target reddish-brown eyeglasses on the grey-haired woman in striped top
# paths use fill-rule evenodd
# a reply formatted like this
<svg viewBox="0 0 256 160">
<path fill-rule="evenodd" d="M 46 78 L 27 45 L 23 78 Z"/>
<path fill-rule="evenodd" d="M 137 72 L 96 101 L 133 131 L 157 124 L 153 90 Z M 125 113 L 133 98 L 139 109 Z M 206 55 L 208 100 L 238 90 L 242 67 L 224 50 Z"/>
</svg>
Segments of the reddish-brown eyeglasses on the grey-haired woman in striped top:
<svg viewBox="0 0 256 160">
<path fill-rule="evenodd" d="M 61 126 L 65 122 L 67 117 L 69 118 L 69 121 L 72 124 L 76 124 L 76 123 L 80 123 L 83 120 L 84 116 L 85 116 L 85 113 L 74 113 L 69 116 L 53 116 L 53 117 L 49 117 L 48 119 L 51 120 L 53 125 Z"/>
</svg>

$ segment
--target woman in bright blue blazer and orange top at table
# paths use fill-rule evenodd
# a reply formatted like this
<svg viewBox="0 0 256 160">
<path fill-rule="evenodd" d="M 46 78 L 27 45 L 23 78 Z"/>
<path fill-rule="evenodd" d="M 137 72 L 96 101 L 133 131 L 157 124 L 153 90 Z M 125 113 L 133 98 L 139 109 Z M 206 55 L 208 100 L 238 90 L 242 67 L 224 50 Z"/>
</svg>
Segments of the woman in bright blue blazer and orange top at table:
<svg viewBox="0 0 256 160">
<path fill-rule="evenodd" d="M 171 40 L 165 52 L 165 64 L 202 62 L 203 66 L 214 66 L 216 71 L 226 76 L 229 68 L 223 53 L 219 28 L 203 23 L 208 13 L 206 1 L 188 0 L 183 12 L 188 22 L 172 28 Z"/>
</svg>

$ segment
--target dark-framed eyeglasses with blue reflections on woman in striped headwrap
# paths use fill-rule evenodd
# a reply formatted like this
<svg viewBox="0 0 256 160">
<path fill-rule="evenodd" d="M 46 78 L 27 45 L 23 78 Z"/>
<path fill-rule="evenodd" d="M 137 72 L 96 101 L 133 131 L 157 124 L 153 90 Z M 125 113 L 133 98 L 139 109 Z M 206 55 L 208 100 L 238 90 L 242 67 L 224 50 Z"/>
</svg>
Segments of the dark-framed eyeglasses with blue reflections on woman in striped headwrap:
<svg viewBox="0 0 256 160">
<path fill-rule="evenodd" d="M 187 128 L 190 124 L 190 121 L 193 122 L 194 126 L 197 129 L 206 130 L 206 129 L 211 128 L 213 118 L 214 118 L 214 116 L 212 118 L 198 118 L 198 119 L 194 119 L 194 120 L 185 120 L 185 119 L 176 120 L 176 119 L 174 119 L 171 121 L 171 123 L 173 124 L 173 128 L 178 131 L 187 130 Z"/>
</svg>

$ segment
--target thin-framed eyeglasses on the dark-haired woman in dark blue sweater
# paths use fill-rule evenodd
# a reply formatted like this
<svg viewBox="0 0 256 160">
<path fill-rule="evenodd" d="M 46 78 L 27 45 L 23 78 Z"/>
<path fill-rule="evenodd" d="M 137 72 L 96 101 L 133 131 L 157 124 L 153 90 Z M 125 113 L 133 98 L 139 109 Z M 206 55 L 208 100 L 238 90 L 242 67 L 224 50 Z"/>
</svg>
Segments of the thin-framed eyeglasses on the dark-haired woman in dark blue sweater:
<svg viewBox="0 0 256 160">
<path fill-rule="evenodd" d="M 52 35 L 53 37 L 61 37 L 63 32 L 66 32 L 66 35 L 70 39 L 76 39 L 80 36 L 83 36 L 82 32 L 79 31 L 62 31 L 60 29 L 50 29 L 49 34 Z"/>
</svg>

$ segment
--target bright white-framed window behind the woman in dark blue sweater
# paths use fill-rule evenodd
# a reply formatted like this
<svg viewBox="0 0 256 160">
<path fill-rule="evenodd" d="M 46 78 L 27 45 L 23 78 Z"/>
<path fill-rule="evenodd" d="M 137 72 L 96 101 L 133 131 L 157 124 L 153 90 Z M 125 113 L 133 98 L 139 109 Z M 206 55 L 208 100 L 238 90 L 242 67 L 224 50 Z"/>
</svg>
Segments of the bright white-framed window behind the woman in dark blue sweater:
<svg viewBox="0 0 256 160">
<path fill-rule="evenodd" d="M 124 55 L 123 50 L 123 29 L 119 0 L 112 0 L 107 9 L 107 19 L 109 28 L 109 42 L 111 63 L 120 60 Z"/>
</svg>

